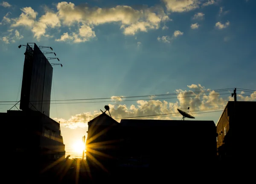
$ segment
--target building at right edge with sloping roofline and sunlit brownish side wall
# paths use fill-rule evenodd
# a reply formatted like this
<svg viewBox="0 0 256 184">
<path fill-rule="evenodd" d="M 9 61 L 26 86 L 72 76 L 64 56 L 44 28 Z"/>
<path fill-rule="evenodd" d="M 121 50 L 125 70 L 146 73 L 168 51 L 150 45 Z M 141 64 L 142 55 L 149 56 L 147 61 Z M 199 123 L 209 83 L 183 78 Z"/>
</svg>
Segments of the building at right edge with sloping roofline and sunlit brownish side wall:
<svg viewBox="0 0 256 184">
<path fill-rule="evenodd" d="M 221 164 L 245 164 L 255 158 L 255 101 L 228 101 L 217 127 Z"/>
</svg>

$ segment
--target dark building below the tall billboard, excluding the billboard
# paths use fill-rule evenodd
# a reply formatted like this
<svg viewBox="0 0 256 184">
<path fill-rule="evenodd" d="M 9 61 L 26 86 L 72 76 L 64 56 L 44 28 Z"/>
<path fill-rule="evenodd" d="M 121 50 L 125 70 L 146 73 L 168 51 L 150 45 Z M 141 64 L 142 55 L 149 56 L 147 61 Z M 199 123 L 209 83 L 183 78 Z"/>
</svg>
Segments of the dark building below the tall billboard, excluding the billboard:
<svg viewBox="0 0 256 184">
<path fill-rule="evenodd" d="M 49 163 L 65 156 L 65 145 L 60 124 L 38 111 L 15 111 L 0 113 L 1 122 L 12 125 L 12 158 Z"/>
</svg>

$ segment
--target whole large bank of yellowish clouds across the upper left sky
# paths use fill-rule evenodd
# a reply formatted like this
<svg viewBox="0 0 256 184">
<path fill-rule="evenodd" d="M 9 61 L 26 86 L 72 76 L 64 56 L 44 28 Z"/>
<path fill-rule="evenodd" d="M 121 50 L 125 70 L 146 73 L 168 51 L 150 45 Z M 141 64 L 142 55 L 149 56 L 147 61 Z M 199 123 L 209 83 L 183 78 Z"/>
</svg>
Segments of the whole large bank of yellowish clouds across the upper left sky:
<svg viewBox="0 0 256 184">
<path fill-rule="evenodd" d="M 124 35 L 135 35 L 137 32 L 159 29 L 160 23 L 171 20 L 159 6 L 141 9 L 134 9 L 131 6 L 99 8 L 60 2 L 56 5 L 56 11 L 45 9 L 41 17 L 38 17 L 38 12 L 31 7 L 20 10 L 22 12 L 19 17 L 7 19 L 5 16 L 3 21 L 10 23 L 11 28 L 25 26 L 31 29 L 38 40 L 42 36 L 50 37 L 47 35 L 47 29 L 74 26 L 76 31 L 64 32 L 56 41 L 70 40 L 75 43 L 96 37 L 93 28 L 101 24 L 116 23 Z"/>
</svg>

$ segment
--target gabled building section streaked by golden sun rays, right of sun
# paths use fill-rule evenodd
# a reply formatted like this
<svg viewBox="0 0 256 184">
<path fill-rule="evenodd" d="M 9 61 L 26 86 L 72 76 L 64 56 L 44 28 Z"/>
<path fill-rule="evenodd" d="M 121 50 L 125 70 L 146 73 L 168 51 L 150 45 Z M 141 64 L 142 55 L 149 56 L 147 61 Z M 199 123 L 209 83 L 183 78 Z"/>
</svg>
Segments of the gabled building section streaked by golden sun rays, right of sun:
<svg viewBox="0 0 256 184">
<path fill-rule="evenodd" d="M 92 169 L 110 170 L 116 164 L 119 123 L 102 113 L 88 122 L 86 160 Z"/>
</svg>

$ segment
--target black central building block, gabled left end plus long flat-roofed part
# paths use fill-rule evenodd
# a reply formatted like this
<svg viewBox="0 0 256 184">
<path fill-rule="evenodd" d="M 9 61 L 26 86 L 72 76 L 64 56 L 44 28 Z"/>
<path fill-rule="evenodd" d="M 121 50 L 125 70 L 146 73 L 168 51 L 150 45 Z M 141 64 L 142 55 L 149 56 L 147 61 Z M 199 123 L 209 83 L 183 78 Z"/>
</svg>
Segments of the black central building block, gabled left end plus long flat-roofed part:
<svg viewBox="0 0 256 184">
<path fill-rule="evenodd" d="M 88 123 L 86 144 L 90 166 L 99 162 L 106 170 L 145 168 L 180 175 L 197 167 L 194 174 L 201 175 L 215 168 L 217 155 L 213 121 L 122 119 L 118 123 L 102 113 Z"/>
</svg>

